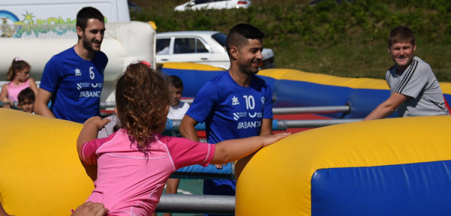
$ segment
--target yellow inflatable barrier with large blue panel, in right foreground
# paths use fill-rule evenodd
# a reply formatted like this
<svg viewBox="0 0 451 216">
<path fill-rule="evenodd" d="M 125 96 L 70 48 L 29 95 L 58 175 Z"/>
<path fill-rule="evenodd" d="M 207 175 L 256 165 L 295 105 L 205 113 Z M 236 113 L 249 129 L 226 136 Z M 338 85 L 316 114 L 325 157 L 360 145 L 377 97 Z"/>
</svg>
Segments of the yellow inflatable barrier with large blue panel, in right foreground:
<svg viewBox="0 0 451 216">
<path fill-rule="evenodd" d="M 263 148 L 237 183 L 236 215 L 445 215 L 451 116 L 345 123 Z"/>
</svg>

